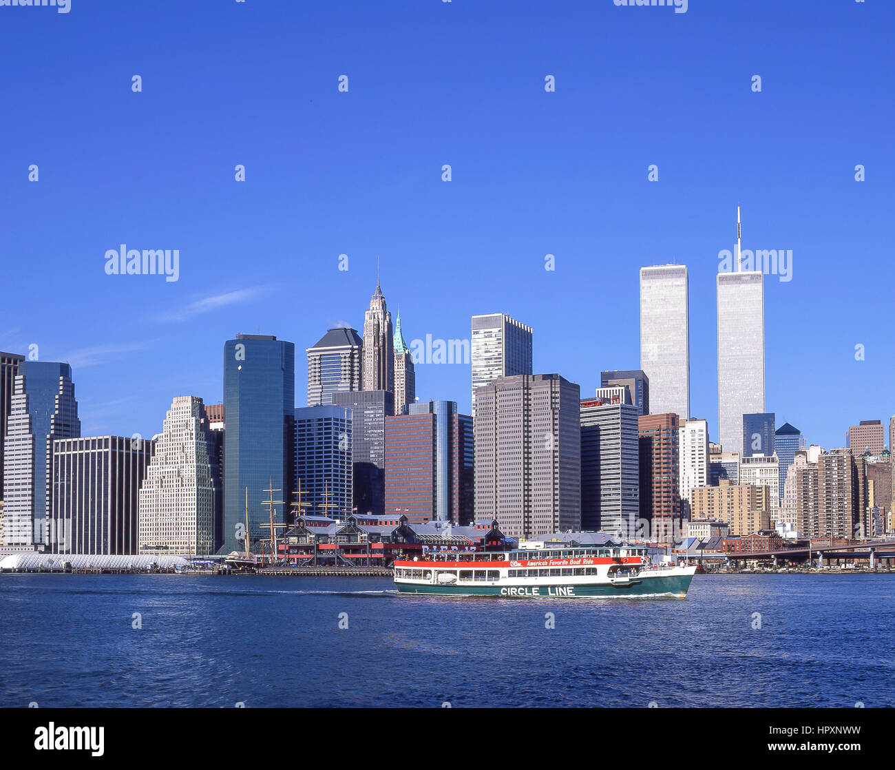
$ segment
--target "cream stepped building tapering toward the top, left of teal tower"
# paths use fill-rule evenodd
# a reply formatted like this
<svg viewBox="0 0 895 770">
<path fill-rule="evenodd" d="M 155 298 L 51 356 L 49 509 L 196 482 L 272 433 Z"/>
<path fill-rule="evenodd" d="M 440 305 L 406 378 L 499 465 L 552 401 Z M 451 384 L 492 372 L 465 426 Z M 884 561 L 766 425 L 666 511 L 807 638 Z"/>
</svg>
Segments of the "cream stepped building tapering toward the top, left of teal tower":
<svg viewBox="0 0 895 770">
<path fill-rule="evenodd" d="M 199 556 L 215 552 L 221 490 L 215 435 L 202 399 L 176 396 L 165 415 L 140 488 L 139 553 Z"/>
</svg>

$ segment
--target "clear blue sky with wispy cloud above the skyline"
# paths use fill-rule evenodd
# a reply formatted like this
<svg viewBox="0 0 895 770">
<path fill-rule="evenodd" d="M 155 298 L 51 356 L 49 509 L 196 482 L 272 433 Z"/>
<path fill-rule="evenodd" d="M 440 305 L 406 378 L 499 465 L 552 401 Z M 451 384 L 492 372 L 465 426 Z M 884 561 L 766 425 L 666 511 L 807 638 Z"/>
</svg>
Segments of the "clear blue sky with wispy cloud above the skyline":
<svg viewBox="0 0 895 770">
<path fill-rule="evenodd" d="M 362 328 L 379 257 L 408 340 L 508 312 L 535 371 L 588 395 L 639 365 L 638 269 L 677 261 L 715 439 L 739 204 L 744 248 L 793 251 L 765 282 L 767 409 L 841 446 L 895 412 L 893 21 L 881 0 L 0 7 L 0 349 L 72 364 L 85 435 L 219 401 L 240 331 L 295 343 L 303 406 L 304 348 Z M 119 244 L 179 249 L 179 280 L 107 275 Z M 417 389 L 468 410 L 469 367 L 421 364 Z"/>
</svg>

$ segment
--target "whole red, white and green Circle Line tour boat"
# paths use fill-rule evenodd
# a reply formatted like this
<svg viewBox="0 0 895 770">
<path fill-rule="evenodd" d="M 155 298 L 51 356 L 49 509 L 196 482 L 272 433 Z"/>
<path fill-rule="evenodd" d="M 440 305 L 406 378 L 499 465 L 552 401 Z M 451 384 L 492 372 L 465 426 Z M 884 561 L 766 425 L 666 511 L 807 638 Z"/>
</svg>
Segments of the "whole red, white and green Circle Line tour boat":
<svg viewBox="0 0 895 770">
<path fill-rule="evenodd" d="M 396 560 L 402 594 L 553 598 L 675 596 L 695 567 L 653 566 L 645 546 L 547 544 L 495 552 L 429 552 Z"/>
</svg>

